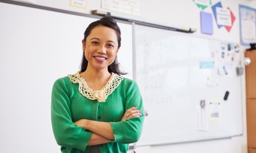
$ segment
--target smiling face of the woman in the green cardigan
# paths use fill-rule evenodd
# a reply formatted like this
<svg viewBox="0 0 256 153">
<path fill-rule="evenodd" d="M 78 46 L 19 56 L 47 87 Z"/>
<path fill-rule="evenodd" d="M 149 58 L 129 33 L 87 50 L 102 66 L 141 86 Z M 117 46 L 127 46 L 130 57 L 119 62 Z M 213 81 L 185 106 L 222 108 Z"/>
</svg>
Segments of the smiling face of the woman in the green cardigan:
<svg viewBox="0 0 256 153">
<path fill-rule="evenodd" d="M 118 53 L 118 41 L 114 29 L 97 26 L 92 29 L 86 42 L 83 42 L 84 55 L 88 61 L 87 68 L 108 69 Z"/>
</svg>

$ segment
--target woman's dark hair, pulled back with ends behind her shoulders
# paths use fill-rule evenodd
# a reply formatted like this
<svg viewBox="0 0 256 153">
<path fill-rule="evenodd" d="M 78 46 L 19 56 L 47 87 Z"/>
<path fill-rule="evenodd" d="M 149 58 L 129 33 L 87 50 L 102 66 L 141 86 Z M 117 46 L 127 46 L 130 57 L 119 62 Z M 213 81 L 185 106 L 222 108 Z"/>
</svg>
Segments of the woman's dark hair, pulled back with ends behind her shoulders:
<svg viewBox="0 0 256 153">
<path fill-rule="evenodd" d="M 86 42 L 86 39 L 87 37 L 90 35 L 91 31 L 99 26 L 99 25 L 103 25 L 105 27 L 108 27 L 108 28 L 112 28 L 116 31 L 116 35 L 117 35 L 117 41 L 118 41 L 118 49 L 120 48 L 121 46 L 121 31 L 115 21 L 114 18 L 112 17 L 103 17 L 101 18 L 100 20 L 97 20 L 95 22 L 92 22 L 86 29 L 86 31 L 84 32 L 84 37 L 83 37 L 83 41 Z M 82 62 L 80 64 L 80 71 L 81 72 L 84 72 L 86 71 L 87 69 L 87 66 L 88 66 L 88 61 L 86 59 L 86 57 L 84 56 L 84 52 L 83 52 L 83 55 L 82 55 Z M 114 72 L 116 74 L 127 74 L 123 71 L 121 71 L 119 69 L 119 63 L 117 62 L 117 57 L 115 58 L 114 62 L 108 66 L 108 70 L 109 72 Z"/>
</svg>

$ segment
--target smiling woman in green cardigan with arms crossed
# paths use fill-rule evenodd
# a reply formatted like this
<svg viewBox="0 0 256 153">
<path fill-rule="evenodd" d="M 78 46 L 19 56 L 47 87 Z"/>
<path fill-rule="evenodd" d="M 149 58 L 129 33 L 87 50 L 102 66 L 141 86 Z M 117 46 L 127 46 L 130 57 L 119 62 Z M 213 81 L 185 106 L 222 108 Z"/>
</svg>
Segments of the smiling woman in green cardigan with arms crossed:
<svg viewBox="0 0 256 153">
<path fill-rule="evenodd" d="M 58 79 L 51 118 L 62 152 L 126 152 L 144 120 L 137 84 L 117 64 L 120 29 L 111 17 L 92 22 L 82 40 L 81 69 Z"/>
</svg>

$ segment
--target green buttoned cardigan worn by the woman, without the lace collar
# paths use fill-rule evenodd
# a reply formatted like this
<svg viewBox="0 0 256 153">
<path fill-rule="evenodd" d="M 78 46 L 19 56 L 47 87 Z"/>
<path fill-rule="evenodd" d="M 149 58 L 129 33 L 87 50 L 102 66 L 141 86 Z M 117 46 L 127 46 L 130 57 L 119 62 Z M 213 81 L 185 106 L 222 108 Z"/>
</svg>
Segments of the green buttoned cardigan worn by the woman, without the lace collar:
<svg viewBox="0 0 256 153">
<path fill-rule="evenodd" d="M 105 102 L 90 100 L 78 91 L 78 83 L 68 77 L 58 79 L 52 89 L 52 128 L 61 152 L 89 152 L 92 132 L 76 126 L 80 119 L 110 122 L 115 140 L 99 145 L 100 152 L 126 152 L 129 143 L 139 140 L 144 121 L 144 109 L 138 85 L 123 78 Z M 137 106 L 141 117 L 120 121 L 125 111 Z"/>
</svg>

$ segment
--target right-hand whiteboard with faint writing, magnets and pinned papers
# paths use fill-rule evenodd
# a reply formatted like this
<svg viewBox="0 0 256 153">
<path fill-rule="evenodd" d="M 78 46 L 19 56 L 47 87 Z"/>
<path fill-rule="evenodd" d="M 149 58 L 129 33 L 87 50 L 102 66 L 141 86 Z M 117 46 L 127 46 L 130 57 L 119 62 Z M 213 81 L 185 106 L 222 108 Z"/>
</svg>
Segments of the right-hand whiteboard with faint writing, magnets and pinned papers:
<svg viewBox="0 0 256 153">
<path fill-rule="evenodd" d="M 145 108 L 137 146 L 243 133 L 240 52 L 230 45 L 229 50 L 226 42 L 135 25 L 135 78 Z"/>
</svg>

